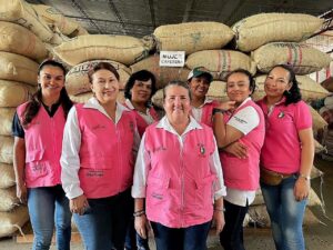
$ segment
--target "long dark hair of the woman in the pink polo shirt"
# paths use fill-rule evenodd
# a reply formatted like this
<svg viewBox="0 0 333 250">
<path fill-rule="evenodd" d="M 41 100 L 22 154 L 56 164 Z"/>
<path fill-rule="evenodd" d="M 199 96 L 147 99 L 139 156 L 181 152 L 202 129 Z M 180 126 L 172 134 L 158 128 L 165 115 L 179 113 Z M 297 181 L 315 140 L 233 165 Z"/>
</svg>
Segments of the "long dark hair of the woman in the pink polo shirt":
<svg viewBox="0 0 333 250">
<path fill-rule="evenodd" d="M 289 91 L 284 91 L 283 96 L 285 97 L 285 106 L 289 106 L 291 103 L 297 103 L 299 101 L 302 100 L 302 94 L 299 88 L 299 82 L 296 80 L 295 72 L 291 66 L 287 64 L 278 64 L 274 66 L 269 74 L 272 72 L 273 69 L 275 68 L 282 68 L 285 69 L 289 72 L 289 83 L 292 84 L 291 89 Z"/>
</svg>

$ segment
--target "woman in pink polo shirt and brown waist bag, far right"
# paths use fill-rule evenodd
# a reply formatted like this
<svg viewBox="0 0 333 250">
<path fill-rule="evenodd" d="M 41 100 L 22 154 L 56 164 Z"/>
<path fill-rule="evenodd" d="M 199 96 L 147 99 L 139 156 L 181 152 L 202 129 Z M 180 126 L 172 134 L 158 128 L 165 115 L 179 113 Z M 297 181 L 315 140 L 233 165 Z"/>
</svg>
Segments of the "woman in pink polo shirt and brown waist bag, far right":
<svg viewBox="0 0 333 250">
<path fill-rule="evenodd" d="M 295 73 L 275 66 L 258 103 L 265 116 L 261 152 L 261 189 L 278 250 L 304 250 L 302 222 L 310 192 L 314 147 L 312 117 L 301 100 Z"/>
</svg>

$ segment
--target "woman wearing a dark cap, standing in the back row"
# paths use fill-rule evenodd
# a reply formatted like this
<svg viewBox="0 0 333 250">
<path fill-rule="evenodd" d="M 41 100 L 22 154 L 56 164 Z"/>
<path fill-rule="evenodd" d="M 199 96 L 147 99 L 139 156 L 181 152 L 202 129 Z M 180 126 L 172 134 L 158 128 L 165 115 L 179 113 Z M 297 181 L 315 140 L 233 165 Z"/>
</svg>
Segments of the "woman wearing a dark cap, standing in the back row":
<svg viewBox="0 0 333 250">
<path fill-rule="evenodd" d="M 189 87 L 192 94 L 191 114 L 196 121 L 212 127 L 213 108 L 219 106 L 218 101 L 206 98 L 212 74 L 203 67 L 194 68 L 188 77 Z"/>
</svg>

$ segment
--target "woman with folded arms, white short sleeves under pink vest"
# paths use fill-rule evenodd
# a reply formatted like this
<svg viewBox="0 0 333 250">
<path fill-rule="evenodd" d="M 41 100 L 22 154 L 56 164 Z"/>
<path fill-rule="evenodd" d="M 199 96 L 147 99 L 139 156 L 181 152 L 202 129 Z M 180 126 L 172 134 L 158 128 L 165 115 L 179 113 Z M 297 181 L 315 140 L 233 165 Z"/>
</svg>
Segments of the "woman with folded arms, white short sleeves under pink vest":
<svg viewBox="0 0 333 250">
<path fill-rule="evenodd" d="M 264 117 L 251 94 L 255 88 L 251 73 L 243 69 L 226 77 L 230 101 L 214 109 L 214 133 L 226 186 L 225 227 L 220 242 L 225 250 L 244 250 L 243 220 L 259 188 L 259 160 L 264 141 Z M 238 150 L 244 151 L 239 156 Z"/>
</svg>

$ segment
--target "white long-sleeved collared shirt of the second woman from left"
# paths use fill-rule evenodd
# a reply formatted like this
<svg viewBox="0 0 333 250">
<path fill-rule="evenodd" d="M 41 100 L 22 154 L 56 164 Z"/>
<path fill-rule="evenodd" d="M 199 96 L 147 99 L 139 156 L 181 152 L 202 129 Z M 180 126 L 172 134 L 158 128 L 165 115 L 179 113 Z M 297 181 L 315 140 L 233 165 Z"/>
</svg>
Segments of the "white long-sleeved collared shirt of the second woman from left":
<svg viewBox="0 0 333 250">
<path fill-rule="evenodd" d="M 95 98 L 91 98 L 83 106 L 84 108 L 95 109 L 112 120 L 104 108 L 99 103 Z M 124 106 L 117 103 L 115 108 L 115 124 L 119 122 L 122 112 L 129 110 Z M 134 136 L 134 153 L 138 152 L 138 146 L 140 142 L 140 136 L 135 130 Z M 67 122 L 63 130 L 63 140 L 62 140 L 62 153 L 60 158 L 61 163 L 61 182 L 62 188 L 65 192 L 65 196 L 69 199 L 73 199 L 83 193 L 83 190 L 80 187 L 80 179 L 78 176 L 80 169 L 80 152 L 81 148 L 81 130 L 79 127 L 78 114 L 75 107 L 72 107 L 68 113 Z"/>
</svg>

